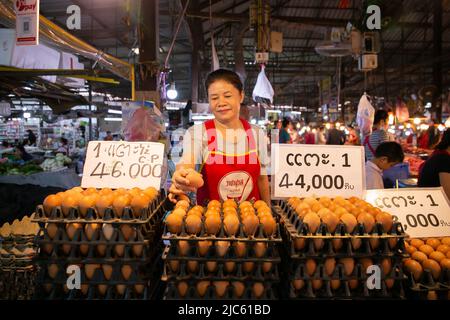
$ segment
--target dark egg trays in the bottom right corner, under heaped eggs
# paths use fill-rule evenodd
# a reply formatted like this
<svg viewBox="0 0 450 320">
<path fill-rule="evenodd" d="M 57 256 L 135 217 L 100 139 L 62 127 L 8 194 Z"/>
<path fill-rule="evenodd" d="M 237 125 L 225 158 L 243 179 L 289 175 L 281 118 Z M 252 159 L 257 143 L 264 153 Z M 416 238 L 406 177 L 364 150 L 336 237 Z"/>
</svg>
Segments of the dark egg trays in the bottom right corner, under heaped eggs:
<svg viewBox="0 0 450 320">
<path fill-rule="evenodd" d="M 424 270 L 417 281 L 408 275 L 408 299 L 425 300 L 430 291 L 436 292 L 438 300 L 450 300 L 450 269 L 442 269 L 438 279 L 429 270 Z"/>
</svg>

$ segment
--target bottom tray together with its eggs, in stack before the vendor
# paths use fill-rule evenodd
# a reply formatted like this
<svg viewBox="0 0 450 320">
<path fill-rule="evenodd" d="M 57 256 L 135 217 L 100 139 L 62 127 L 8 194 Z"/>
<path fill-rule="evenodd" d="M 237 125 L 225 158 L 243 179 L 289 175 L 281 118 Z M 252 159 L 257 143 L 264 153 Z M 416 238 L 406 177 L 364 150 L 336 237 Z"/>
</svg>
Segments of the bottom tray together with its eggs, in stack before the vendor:
<svg viewBox="0 0 450 320">
<path fill-rule="evenodd" d="M 187 287 L 181 289 L 180 282 L 187 284 Z M 278 288 L 271 282 L 244 281 L 240 282 L 242 287 L 237 290 L 233 281 L 218 281 L 220 286 L 216 286 L 217 282 L 211 281 L 205 291 L 200 295 L 197 288 L 197 281 L 175 281 L 167 284 L 164 294 L 165 300 L 275 300 L 278 297 Z M 202 290 L 202 291 L 203 291 Z M 180 292 L 181 291 L 181 292 Z M 185 291 L 185 292 L 183 292 Z"/>
</svg>

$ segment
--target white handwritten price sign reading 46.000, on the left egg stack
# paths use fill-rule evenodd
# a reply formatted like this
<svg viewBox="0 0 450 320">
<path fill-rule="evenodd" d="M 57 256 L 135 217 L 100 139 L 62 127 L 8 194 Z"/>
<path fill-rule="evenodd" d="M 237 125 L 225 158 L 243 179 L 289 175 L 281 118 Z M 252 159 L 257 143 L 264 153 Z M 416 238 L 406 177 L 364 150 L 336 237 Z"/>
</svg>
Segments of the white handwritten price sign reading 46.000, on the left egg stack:
<svg viewBox="0 0 450 320">
<path fill-rule="evenodd" d="M 160 188 L 164 145 L 156 142 L 91 141 L 83 188 Z"/>
</svg>

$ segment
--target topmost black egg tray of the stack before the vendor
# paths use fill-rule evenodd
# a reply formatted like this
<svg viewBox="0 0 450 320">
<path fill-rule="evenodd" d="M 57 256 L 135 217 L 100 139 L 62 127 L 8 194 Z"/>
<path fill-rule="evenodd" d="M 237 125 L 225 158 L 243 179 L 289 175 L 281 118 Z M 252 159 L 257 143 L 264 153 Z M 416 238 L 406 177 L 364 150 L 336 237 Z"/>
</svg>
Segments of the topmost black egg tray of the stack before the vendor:
<svg viewBox="0 0 450 320">
<path fill-rule="evenodd" d="M 221 218 L 223 218 L 221 216 Z M 281 242 L 281 232 L 280 232 L 280 225 L 279 223 L 276 224 L 275 232 L 271 236 L 266 236 L 264 234 L 264 228 L 263 225 L 260 223 L 256 229 L 256 232 L 253 236 L 247 236 L 244 232 L 244 225 L 242 224 L 241 217 L 238 216 L 239 219 L 239 228 L 236 232 L 236 235 L 229 236 L 226 231 L 223 224 L 223 221 L 220 225 L 220 230 L 216 235 L 210 235 L 206 232 L 205 227 L 205 218 L 202 217 L 202 226 L 201 231 L 197 234 L 190 234 L 186 230 L 186 223 L 185 218 L 183 218 L 183 223 L 181 225 L 181 232 L 179 234 L 171 234 L 168 231 L 167 225 L 164 225 L 164 234 L 163 234 L 163 240 L 171 240 L 171 239 L 178 239 L 178 240 L 189 240 L 189 239 L 195 239 L 198 241 L 203 240 L 219 240 L 219 241 L 268 241 L 268 242 Z"/>
</svg>

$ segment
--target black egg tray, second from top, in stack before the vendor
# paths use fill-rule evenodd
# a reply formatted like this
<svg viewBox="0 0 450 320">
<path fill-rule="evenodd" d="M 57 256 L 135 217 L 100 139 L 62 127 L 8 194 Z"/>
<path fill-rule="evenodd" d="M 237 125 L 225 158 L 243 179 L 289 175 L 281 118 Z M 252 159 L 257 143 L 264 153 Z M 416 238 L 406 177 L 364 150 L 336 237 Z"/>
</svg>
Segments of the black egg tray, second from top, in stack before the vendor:
<svg viewBox="0 0 450 320">
<path fill-rule="evenodd" d="M 253 248 L 246 248 L 246 251 L 242 257 L 239 257 L 236 252 L 236 248 L 231 244 L 225 255 L 220 256 L 217 253 L 216 246 L 213 245 L 209 248 L 209 250 L 204 255 L 200 255 L 198 246 L 191 246 L 189 250 L 185 253 L 180 251 L 179 246 L 173 242 L 170 246 L 166 248 L 167 260 L 197 260 L 197 261 L 217 261 L 217 262 L 226 262 L 226 261 L 270 261 L 270 262 L 280 262 L 280 254 L 277 246 L 268 245 L 264 255 L 257 257 L 255 255 Z"/>
</svg>

